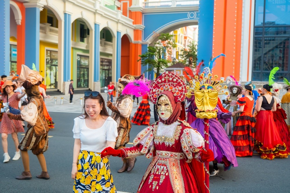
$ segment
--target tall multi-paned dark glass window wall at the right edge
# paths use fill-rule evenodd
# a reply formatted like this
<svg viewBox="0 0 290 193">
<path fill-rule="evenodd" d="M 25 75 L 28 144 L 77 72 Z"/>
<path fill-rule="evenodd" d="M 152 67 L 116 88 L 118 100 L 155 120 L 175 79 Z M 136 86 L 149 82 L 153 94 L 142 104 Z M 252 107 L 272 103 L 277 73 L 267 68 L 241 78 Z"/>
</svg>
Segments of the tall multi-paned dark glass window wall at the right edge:
<svg viewBox="0 0 290 193">
<path fill-rule="evenodd" d="M 255 0 L 252 81 L 268 81 L 279 67 L 276 81 L 290 77 L 290 1 Z"/>
</svg>

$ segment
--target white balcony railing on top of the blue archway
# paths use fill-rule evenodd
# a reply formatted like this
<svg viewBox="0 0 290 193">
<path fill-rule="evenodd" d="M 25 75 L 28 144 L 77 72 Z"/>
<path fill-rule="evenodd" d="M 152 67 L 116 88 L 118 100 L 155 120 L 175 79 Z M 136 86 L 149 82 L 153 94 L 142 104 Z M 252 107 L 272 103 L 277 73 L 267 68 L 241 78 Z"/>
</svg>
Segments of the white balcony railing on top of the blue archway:
<svg viewBox="0 0 290 193">
<path fill-rule="evenodd" d="M 198 6 L 199 0 L 172 0 L 143 2 L 143 8 L 189 7 Z"/>
</svg>

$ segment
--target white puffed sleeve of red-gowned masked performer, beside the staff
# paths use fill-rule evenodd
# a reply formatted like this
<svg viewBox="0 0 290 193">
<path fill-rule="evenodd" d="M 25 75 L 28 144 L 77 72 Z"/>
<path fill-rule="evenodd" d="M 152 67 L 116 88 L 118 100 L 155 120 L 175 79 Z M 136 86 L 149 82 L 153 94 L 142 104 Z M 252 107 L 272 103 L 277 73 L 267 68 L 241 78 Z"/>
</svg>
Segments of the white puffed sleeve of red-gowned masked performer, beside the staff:
<svg viewBox="0 0 290 193">
<path fill-rule="evenodd" d="M 180 137 L 182 150 L 186 155 L 187 161 L 191 162 L 195 153 L 198 153 L 204 147 L 204 139 L 202 135 L 193 128 L 186 128 Z"/>
</svg>

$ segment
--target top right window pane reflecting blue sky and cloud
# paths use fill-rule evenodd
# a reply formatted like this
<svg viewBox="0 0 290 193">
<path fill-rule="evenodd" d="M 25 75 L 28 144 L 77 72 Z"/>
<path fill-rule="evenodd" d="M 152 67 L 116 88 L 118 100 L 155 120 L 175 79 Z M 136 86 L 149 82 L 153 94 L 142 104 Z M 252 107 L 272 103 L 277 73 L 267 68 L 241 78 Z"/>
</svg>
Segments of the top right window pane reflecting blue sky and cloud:
<svg viewBox="0 0 290 193">
<path fill-rule="evenodd" d="M 290 1 L 266 0 L 265 26 L 290 25 Z"/>
</svg>

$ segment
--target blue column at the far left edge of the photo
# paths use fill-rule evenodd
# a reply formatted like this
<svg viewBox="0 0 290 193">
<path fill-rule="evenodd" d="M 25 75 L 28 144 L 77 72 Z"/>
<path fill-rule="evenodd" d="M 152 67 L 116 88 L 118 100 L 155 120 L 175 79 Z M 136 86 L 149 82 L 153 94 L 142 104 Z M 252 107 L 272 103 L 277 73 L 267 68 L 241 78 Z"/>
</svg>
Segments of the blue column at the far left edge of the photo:
<svg viewBox="0 0 290 193">
<path fill-rule="evenodd" d="M 10 3 L 0 1 L 0 76 L 10 70 Z"/>
</svg>

